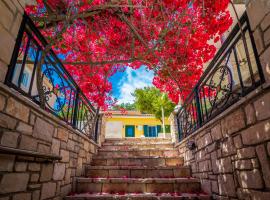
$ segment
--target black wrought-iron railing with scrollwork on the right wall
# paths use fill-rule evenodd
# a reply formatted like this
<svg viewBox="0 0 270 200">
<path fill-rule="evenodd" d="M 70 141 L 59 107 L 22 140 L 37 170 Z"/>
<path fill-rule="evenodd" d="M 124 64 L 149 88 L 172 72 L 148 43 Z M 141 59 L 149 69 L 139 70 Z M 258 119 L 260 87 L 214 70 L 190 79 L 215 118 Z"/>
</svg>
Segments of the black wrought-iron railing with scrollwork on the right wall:
<svg viewBox="0 0 270 200">
<path fill-rule="evenodd" d="M 177 113 L 179 141 L 263 82 L 254 38 L 244 13 Z"/>
</svg>

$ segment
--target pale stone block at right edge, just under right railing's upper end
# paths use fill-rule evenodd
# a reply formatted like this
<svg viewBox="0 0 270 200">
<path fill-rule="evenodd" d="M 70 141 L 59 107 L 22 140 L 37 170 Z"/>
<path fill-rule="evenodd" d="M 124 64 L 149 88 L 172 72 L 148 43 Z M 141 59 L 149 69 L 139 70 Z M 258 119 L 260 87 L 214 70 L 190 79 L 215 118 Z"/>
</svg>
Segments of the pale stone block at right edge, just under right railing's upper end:
<svg viewBox="0 0 270 200">
<path fill-rule="evenodd" d="M 270 92 L 264 94 L 254 102 L 256 117 L 258 120 L 270 118 Z"/>
</svg>

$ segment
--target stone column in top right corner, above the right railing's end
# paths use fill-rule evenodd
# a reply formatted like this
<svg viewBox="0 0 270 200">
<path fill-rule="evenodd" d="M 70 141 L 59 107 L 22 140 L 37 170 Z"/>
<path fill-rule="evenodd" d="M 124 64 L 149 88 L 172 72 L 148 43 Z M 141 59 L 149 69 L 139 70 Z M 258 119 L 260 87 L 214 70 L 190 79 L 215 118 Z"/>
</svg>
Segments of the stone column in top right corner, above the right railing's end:
<svg viewBox="0 0 270 200">
<path fill-rule="evenodd" d="M 249 0 L 247 13 L 266 82 L 270 83 L 270 1 Z"/>
</svg>

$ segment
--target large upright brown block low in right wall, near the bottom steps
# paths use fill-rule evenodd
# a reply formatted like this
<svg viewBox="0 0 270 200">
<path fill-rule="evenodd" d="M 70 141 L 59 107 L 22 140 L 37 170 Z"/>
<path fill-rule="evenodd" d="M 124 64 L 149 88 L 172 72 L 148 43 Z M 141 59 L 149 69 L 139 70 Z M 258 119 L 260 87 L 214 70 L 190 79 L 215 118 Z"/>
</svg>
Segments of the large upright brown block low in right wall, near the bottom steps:
<svg viewBox="0 0 270 200">
<path fill-rule="evenodd" d="M 235 182 L 232 174 L 218 176 L 219 193 L 224 196 L 236 196 Z"/>
</svg>

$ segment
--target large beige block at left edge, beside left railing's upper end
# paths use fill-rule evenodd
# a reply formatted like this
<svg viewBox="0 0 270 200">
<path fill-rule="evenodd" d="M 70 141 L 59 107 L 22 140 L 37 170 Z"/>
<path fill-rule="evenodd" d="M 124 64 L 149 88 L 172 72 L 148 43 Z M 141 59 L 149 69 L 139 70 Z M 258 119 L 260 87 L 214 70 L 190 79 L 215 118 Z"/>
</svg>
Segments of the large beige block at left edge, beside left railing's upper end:
<svg viewBox="0 0 270 200">
<path fill-rule="evenodd" d="M 5 64 L 9 64 L 13 53 L 15 40 L 12 35 L 2 26 L 0 26 L 0 59 Z M 1 70 L 0 70 L 1 71 Z"/>
</svg>

